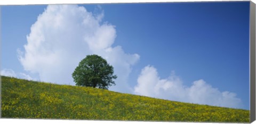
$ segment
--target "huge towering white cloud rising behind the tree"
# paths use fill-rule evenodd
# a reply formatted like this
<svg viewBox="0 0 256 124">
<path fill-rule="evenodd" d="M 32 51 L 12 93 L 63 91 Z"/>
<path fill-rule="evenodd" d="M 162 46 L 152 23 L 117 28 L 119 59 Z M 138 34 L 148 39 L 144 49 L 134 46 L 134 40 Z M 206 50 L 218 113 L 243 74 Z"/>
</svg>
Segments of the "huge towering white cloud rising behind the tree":
<svg viewBox="0 0 256 124">
<path fill-rule="evenodd" d="M 27 36 L 25 50 L 19 50 L 23 68 L 38 73 L 40 80 L 75 85 L 71 74 L 86 55 L 97 54 L 113 65 L 116 86 L 109 90 L 132 92 L 127 78 L 137 54 L 126 54 L 115 42 L 115 26 L 101 23 L 104 16 L 100 6 L 97 14 L 78 5 L 49 5 L 38 16 Z"/>
</svg>

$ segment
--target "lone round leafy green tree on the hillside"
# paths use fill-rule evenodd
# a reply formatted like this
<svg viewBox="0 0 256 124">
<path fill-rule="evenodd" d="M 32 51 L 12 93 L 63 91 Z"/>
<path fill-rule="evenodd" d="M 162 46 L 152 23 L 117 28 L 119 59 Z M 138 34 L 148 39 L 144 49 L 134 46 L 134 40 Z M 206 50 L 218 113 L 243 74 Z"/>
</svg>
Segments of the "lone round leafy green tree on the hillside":
<svg viewBox="0 0 256 124">
<path fill-rule="evenodd" d="M 90 86 L 108 89 L 115 85 L 112 79 L 114 68 L 109 65 L 105 59 L 98 55 L 87 55 L 74 70 L 72 77 L 78 86 Z"/>
</svg>

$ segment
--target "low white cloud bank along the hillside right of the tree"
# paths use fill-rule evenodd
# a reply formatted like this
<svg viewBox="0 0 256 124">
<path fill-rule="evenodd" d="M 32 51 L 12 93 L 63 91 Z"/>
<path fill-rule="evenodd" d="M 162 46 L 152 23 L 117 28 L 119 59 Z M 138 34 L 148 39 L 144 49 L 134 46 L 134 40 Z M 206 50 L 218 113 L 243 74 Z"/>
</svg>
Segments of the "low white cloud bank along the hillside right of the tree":
<svg viewBox="0 0 256 124">
<path fill-rule="evenodd" d="M 137 82 L 134 93 L 138 95 L 219 107 L 242 108 L 242 100 L 236 98 L 235 93 L 221 92 L 203 79 L 194 81 L 190 87 L 185 86 L 174 72 L 168 78 L 161 79 L 157 69 L 150 65 L 141 70 Z"/>
</svg>

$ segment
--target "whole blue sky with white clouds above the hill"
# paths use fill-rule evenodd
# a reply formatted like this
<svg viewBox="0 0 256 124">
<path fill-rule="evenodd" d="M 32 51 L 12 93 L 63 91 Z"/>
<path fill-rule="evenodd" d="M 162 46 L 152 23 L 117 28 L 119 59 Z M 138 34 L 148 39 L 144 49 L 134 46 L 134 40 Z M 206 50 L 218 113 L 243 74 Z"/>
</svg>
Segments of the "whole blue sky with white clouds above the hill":
<svg viewBox="0 0 256 124">
<path fill-rule="evenodd" d="M 109 90 L 249 110 L 249 5 L 2 6 L 1 74 L 74 85 L 98 54 L 118 76 Z"/>
</svg>

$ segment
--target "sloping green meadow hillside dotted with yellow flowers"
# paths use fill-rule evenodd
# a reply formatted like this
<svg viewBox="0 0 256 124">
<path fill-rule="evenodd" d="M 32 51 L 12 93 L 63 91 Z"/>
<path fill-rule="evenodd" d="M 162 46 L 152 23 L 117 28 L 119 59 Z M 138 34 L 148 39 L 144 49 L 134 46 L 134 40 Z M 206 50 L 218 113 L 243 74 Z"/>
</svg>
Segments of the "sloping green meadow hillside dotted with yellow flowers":
<svg viewBox="0 0 256 124">
<path fill-rule="evenodd" d="M 249 122 L 249 110 L 212 107 L 1 76 L 2 118 Z"/>
</svg>

